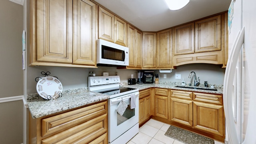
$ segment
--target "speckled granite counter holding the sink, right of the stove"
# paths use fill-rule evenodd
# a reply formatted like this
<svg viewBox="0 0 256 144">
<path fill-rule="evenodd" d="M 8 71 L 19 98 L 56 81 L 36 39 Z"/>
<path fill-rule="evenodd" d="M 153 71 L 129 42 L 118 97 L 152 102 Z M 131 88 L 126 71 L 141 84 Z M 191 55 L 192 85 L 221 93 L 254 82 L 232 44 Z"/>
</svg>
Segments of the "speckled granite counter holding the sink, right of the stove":
<svg viewBox="0 0 256 144">
<path fill-rule="evenodd" d="M 206 93 L 211 93 L 211 94 L 223 94 L 223 85 L 220 84 L 212 84 L 210 86 L 214 86 L 217 91 L 214 90 L 199 90 L 199 89 L 193 89 L 195 86 L 190 86 L 191 88 L 178 88 L 175 86 L 182 86 L 180 82 L 160 82 L 159 84 L 134 84 L 134 85 L 128 85 L 126 83 L 121 84 L 124 87 L 129 87 L 129 88 L 138 88 L 139 90 L 144 90 L 146 88 L 169 88 L 169 89 L 174 89 L 174 90 L 188 90 L 191 92 L 206 92 Z M 188 85 L 186 85 L 188 86 Z M 199 87 L 204 88 L 204 86 L 201 84 Z M 209 88 L 211 89 L 211 88 Z"/>
</svg>

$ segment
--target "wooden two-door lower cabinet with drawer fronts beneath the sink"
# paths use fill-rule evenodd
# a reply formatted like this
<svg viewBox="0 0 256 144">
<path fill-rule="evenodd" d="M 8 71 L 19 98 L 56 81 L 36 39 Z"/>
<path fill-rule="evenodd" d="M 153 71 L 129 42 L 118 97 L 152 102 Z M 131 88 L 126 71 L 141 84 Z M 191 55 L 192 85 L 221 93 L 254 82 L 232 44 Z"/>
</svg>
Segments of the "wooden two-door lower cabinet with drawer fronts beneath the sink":
<svg viewBox="0 0 256 144">
<path fill-rule="evenodd" d="M 222 94 L 170 90 L 170 123 L 224 142 Z"/>
</svg>

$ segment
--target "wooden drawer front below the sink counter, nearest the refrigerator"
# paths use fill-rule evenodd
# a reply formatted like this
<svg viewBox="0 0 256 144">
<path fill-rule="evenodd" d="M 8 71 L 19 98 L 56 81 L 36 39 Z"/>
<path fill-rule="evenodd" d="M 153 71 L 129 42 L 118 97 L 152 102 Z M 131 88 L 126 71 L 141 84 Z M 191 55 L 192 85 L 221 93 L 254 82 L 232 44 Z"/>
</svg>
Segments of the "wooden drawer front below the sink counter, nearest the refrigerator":
<svg viewBox="0 0 256 144">
<path fill-rule="evenodd" d="M 213 104 L 223 104 L 222 95 L 215 94 L 203 94 L 198 92 L 193 92 L 193 100 L 200 102 L 209 102 Z"/>
</svg>

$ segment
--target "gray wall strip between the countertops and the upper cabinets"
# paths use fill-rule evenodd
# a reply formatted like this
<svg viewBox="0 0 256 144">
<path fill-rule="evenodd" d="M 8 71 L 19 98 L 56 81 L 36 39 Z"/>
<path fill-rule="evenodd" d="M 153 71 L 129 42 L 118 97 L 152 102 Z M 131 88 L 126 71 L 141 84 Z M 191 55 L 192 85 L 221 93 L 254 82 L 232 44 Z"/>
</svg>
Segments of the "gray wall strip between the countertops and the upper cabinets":
<svg viewBox="0 0 256 144">
<path fill-rule="evenodd" d="M 172 73 L 160 73 L 159 70 L 154 70 L 155 74 L 159 74 L 160 81 L 181 82 L 184 78 L 185 82 L 194 83 L 194 74 L 192 78 L 188 78 L 191 71 L 196 72 L 196 76 L 200 77 L 200 82 L 208 81 L 209 84 L 223 84 L 224 68 L 214 64 L 187 64 L 178 66 L 177 69 L 172 70 Z M 68 68 L 68 67 L 52 67 L 52 66 L 38 66 L 28 67 L 28 94 L 36 93 L 35 78 L 43 76 L 41 72 L 51 72 L 49 76 L 57 76 L 63 85 L 63 89 L 83 88 L 88 86 L 88 74 L 90 71 L 95 71 L 96 76 L 101 76 L 102 72 L 109 72 L 109 75 L 120 76 L 121 82 L 127 82 L 131 78 L 137 78 L 138 70 L 117 69 L 116 67 L 98 67 L 98 68 Z M 167 78 L 163 78 L 164 74 Z M 181 79 L 175 79 L 175 74 L 181 74 Z"/>
</svg>

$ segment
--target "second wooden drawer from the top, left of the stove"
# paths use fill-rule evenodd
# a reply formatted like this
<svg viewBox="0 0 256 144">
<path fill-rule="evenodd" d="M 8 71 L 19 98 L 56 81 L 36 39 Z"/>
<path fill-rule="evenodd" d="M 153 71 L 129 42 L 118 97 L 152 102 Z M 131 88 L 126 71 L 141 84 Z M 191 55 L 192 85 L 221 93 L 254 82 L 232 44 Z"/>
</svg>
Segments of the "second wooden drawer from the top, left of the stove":
<svg viewBox="0 0 256 144">
<path fill-rule="evenodd" d="M 88 122 L 42 140 L 42 144 L 88 144 L 108 130 L 108 115 L 103 114 Z"/>
</svg>

